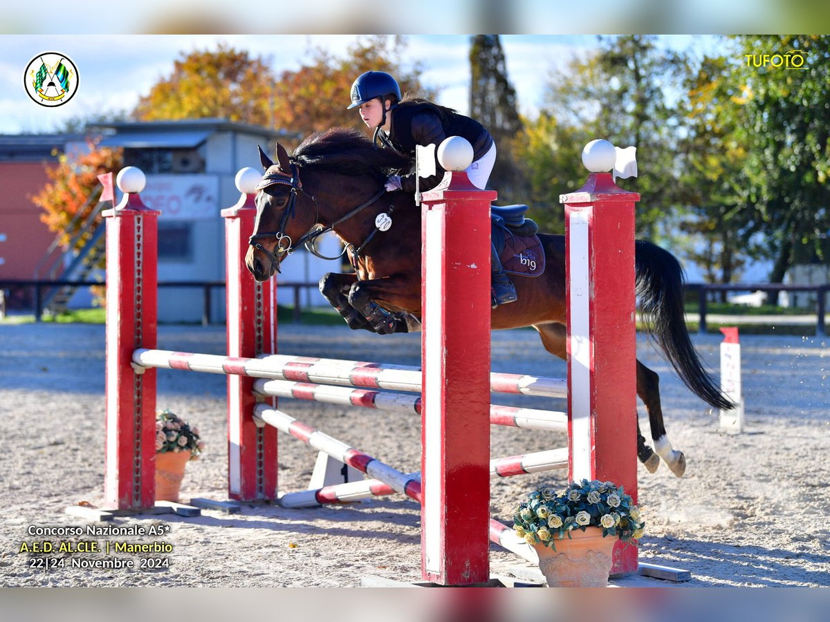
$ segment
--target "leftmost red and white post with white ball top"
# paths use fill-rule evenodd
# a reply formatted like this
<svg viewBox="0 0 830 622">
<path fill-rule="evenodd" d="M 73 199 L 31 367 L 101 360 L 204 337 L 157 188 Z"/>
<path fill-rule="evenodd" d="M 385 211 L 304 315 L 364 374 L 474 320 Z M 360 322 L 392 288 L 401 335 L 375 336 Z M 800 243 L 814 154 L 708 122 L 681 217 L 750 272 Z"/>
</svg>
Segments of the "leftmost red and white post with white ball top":
<svg viewBox="0 0 830 622">
<path fill-rule="evenodd" d="M 105 507 L 155 504 L 156 371 L 134 368 L 136 348 L 156 347 L 159 211 L 139 198 L 138 168 L 118 173 L 124 197 L 106 220 Z"/>
</svg>

